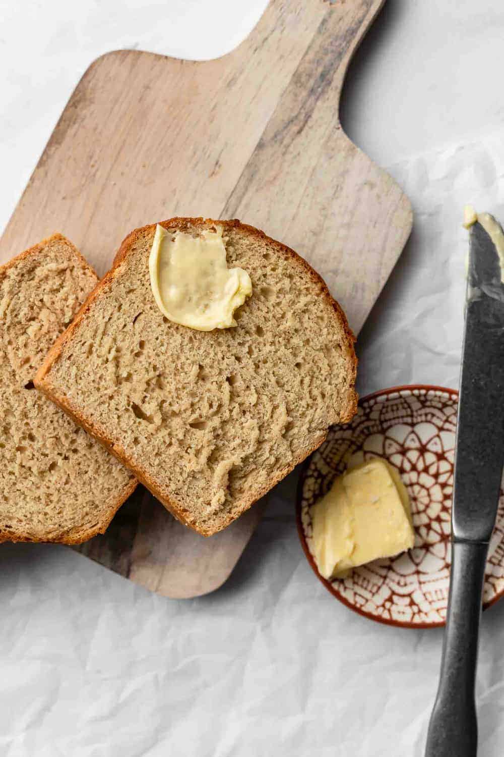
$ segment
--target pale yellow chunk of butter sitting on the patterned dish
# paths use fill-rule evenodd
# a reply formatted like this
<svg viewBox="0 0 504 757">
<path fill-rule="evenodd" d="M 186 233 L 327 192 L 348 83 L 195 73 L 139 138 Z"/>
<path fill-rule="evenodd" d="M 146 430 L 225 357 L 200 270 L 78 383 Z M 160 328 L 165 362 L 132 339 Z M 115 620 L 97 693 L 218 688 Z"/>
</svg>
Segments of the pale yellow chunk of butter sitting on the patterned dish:
<svg viewBox="0 0 504 757">
<path fill-rule="evenodd" d="M 410 500 L 397 471 L 375 458 L 335 479 L 312 511 L 314 558 L 320 575 L 339 578 L 415 541 Z"/>
</svg>

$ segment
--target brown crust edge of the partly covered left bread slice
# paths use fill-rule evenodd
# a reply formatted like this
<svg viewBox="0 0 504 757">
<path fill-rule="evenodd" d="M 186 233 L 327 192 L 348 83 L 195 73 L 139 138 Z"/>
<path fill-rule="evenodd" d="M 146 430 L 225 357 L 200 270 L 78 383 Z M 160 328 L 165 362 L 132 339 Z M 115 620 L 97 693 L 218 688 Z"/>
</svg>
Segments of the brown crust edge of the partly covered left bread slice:
<svg viewBox="0 0 504 757">
<path fill-rule="evenodd" d="M 0 266 L 0 279 L 5 276 L 5 273 L 8 272 L 9 269 L 16 266 L 17 263 L 20 263 L 21 260 L 25 260 L 27 257 L 30 257 L 32 255 L 39 254 L 39 252 L 42 252 L 48 245 L 51 244 L 51 241 L 63 241 L 72 251 L 72 254 L 76 257 L 76 260 L 81 264 L 83 269 L 87 269 L 88 271 L 91 271 L 91 273 L 94 274 L 97 282 L 99 281 L 98 276 L 94 268 L 92 268 L 88 261 L 85 260 L 85 257 L 82 256 L 82 254 L 79 252 L 79 250 L 76 248 L 75 245 L 72 244 L 70 239 L 67 239 L 63 234 L 60 234 L 59 232 L 56 232 L 54 234 L 51 234 L 45 239 L 42 239 L 38 244 L 33 245 L 29 249 L 25 250 L 24 252 L 21 252 L 20 254 L 16 255 L 16 257 L 11 258 L 11 260 L 8 260 L 7 263 L 4 263 L 2 266 Z M 81 307 L 82 310 L 82 307 Z M 35 378 L 33 380 L 33 383 L 35 384 Z M 57 403 L 58 404 L 58 403 Z M 65 410 L 62 408 L 62 410 Z M 68 413 L 67 413 L 68 414 Z M 82 425 L 82 424 L 77 424 Z M 131 478 L 131 480 L 128 482 L 128 485 L 125 486 L 122 491 L 119 494 L 119 497 L 117 497 L 117 500 L 114 501 L 113 505 L 108 509 L 107 513 L 104 515 L 104 517 L 101 519 L 100 523 L 96 525 L 94 528 L 73 528 L 71 531 L 68 531 L 64 535 L 58 535 L 57 537 L 51 538 L 39 538 L 39 537 L 32 537 L 28 535 L 18 535 L 18 534 L 11 534 L 11 532 L 2 531 L 0 528 L 0 543 L 10 541 L 13 543 L 16 542 L 30 542 L 33 544 L 36 543 L 53 543 L 53 544 L 67 544 L 67 545 L 73 545 L 73 544 L 82 544 L 82 542 L 87 541 L 88 539 L 91 539 L 94 536 L 97 536 L 97 534 L 104 534 L 105 531 L 107 531 L 108 526 L 110 525 L 110 521 L 113 519 L 113 516 L 116 515 L 117 510 L 119 507 L 125 502 L 125 500 L 128 499 L 128 497 L 133 494 L 135 489 L 138 486 L 138 481 L 136 478 Z"/>
</svg>

